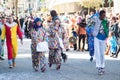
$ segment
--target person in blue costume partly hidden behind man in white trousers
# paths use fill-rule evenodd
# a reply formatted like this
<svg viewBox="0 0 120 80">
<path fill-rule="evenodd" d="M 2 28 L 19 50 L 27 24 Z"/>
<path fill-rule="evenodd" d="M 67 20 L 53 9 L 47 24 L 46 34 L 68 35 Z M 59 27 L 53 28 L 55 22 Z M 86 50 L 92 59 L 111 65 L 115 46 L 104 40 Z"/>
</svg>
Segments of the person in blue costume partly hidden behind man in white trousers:
<svg viewBox="0 0 120 80">
<path fill-rule="evenodd" d="M 98 13 L 95 13 L 88 18 L 87 20 L 87 26 L 86 26 L 86 32 L 87 32 L 87 42 L 88 42 L 88 50 L 89 50 L 89 55 L 90 55 L 90 61 L 93 61 L 94 57 L 94 36 L 93 36 L 93 30 L 94 30 L 94 17 L 99 17 L 97 15 Z"/>
</svg>

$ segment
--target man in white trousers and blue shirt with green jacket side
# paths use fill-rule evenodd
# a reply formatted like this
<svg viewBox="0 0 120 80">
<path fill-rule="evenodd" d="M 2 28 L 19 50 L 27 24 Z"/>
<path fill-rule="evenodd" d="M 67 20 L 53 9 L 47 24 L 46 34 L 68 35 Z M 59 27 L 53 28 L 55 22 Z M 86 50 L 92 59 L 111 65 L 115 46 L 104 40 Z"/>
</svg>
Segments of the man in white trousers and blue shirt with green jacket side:
<svg viewBox="0 0 120 80">
<path fill-rule="evenodd" d="M 94 53 L 96 58 L 96 68 L 98 74 L 104 74 L 105 60 L 104 52 L 106 48 L 106 38 L 108 37 L 108 21 L 105 19 L 106 12 L 101 10 L 99 17 L 95 18 L 94 35 Z"/>
</svg>

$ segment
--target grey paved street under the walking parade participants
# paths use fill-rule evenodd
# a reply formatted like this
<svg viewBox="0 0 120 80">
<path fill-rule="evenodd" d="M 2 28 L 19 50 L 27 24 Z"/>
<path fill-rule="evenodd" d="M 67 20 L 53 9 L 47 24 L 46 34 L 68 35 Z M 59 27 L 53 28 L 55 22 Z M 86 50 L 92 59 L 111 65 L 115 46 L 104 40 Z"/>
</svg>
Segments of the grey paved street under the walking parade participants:
<svg viewBox="0 0 120 80">
<path fill-rule="evenodd" d="M 6 48 L 6 47 L 5 47 Z M 6 53 L 6 50 L 5 50 Z M 24 45 L 19 44 L 19 52 L 16 59 L 16 68 L 9 69 L 7 57 L 0 62 L 0 80 L 120 80 L 120 55 L 119 58 L 106 58 L 105 74 L 100 76 L 95 68 L 95 60 L 89 61 L 88 52 L 69 51 L 68 61 L 62 63 L 57 71 L 55 66 L 45 73 L 35 72 L 31 65 L 30 40 L 24 40 Z M 47 63 L 48 53 L 46 53 Z"/>
</svg>

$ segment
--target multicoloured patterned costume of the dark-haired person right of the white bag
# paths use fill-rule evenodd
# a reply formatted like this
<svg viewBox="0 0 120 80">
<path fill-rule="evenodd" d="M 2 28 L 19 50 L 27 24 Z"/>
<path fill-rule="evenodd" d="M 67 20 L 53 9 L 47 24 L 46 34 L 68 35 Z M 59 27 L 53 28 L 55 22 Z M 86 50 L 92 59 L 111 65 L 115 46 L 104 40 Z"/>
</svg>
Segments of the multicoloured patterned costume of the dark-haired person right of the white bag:
<svg viewBox="0 0 120 80">
<path fill-rule="evenodd" d="M 52 64 L 56 64 L 57 66 L 61 65 L 61 48 L 59 39 L 57 37 L 57 34 L 55 32 L 55 28 L 49 27 L 48 28 L 48 45 L 49 45 L 49 67 L 51 67 Z"/>
</svg>

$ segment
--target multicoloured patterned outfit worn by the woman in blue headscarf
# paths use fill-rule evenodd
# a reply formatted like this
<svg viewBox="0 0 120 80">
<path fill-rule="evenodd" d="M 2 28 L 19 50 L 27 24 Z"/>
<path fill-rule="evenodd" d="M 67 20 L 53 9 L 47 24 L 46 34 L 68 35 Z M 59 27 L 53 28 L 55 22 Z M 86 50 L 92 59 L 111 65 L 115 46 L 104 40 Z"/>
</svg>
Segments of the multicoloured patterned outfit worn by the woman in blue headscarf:
<svg viewBox="0 0 120 80">
<path fill-rule="evenodd" d="M 37 31 L 32 30 L 31 32 L 32 65 L 34 69 L 39 69 L 39 67 L 45 67 L 45 54 L 42 52 L 37 52 L 36 46 L 38 42 L 42 42 L 46 40 L 46 38 L 47 35 L 44 28 L 40 28 Z"/>
</svg>

